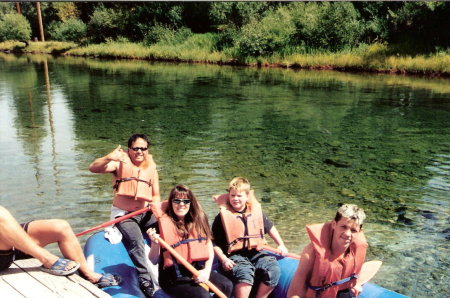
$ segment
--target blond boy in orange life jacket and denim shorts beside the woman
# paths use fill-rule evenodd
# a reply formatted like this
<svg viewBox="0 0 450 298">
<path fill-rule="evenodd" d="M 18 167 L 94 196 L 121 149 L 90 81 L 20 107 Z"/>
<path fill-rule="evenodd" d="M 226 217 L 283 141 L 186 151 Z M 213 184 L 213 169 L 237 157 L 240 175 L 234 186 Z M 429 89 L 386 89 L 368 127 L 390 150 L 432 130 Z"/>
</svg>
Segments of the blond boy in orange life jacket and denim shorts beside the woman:
<svg viewBox="0 0 450 298">
<path fill-rule="evenodd" d="M 234 178 L 228 193 L 214 199 L 220 206 L 212 226 L 214 252 L 235 284 L 235 297 L 248 297 L 255 280 L 260 281 L 256 297 L 267 297 L 278 284 L 280 267 L 261 247 L 264 234 L 269 233 L 278 249 L 287 253 L 280 234 L 262 212 L 247 179 Z"/>
</svg>

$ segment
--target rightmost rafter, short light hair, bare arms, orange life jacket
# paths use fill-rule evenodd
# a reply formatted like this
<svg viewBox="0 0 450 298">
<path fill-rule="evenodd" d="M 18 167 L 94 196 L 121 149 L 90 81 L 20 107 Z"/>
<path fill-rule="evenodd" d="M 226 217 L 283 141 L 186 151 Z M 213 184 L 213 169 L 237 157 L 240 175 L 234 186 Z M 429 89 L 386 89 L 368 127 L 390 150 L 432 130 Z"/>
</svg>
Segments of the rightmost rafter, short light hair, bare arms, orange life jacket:
<svg viewBox="0 0 450 298">
<path fill-rule="evenodd" d="M 344 204 L 335 219 L 307 225 L 310 243 L 302 252 L 288 297 L 356 297 L 356 276 L 366 256 L 362 232 L 366 215 L 353 204 Z"/>
</svg>

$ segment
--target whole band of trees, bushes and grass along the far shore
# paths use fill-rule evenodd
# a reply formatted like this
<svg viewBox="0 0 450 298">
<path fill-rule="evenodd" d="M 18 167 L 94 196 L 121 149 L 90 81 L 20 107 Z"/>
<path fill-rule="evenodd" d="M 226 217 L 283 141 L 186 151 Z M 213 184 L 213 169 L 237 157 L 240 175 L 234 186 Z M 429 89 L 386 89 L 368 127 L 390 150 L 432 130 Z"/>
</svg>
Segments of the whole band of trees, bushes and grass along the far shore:
<svg viewBox="0 0 450 298">
<path fill-rule="evenodd" d="M 449 77 L 449 15 L 438 1 L 0 3 L 0 51 Z"/>
</svg>

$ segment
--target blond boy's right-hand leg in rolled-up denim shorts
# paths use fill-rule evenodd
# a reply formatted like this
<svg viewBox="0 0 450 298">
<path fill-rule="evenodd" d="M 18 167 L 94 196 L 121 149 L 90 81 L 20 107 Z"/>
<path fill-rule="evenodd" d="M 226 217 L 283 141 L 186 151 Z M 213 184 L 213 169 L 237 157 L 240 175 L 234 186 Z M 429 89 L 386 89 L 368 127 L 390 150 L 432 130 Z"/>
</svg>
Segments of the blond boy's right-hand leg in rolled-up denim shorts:
<svg viewBox="0 0 450 298">
<path fill-rule="evenodd" d="M 256 280 L 261 281 L 256 292 L 257 298 L 266 298 L 277 286 L 280 279 L 280 266 L 274 256 L 257 255 L 252 258 L 255 264 Z"/>
</svg>

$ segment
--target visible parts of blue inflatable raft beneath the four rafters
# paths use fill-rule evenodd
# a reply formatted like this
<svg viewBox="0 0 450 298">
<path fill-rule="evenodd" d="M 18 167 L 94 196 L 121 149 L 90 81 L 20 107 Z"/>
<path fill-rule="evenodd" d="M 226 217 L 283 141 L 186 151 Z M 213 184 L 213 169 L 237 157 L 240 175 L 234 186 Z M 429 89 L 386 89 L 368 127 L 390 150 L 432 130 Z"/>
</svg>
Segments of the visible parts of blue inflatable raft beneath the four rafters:
<svg viewBox="0 0 450 298">
<path fill-rule="evenodd" d="M 148 238 L 146 243 L 149 243 Z M 94 270 L 99 273 L 118 273 L 123 279 L 119 286 L 103 289 L 112 297 L 142 297 L 145 296 L 139 289 L 136 269 L 128 256 L 122 243 L 111 244 L 104 237 L 104 232 L 98 232 L 86 242 L 84 254 L 89 264 L 93 264 Z M 291 258 L 278 258 L 281 267 L 281 277 L 278 286 L 273 291 L 273 297 L 285 298 L 289 284 L 298 266 L 298 260 Z M 169 298 L 162 290 L 158 290 L 155 298 Z M 361 298 L 400 298 L 406 297 L 396 292 L 387 290 L 375 284 L 367 283 L 363 286 L 363 291 L 359 295 Z"/>
</svg>

